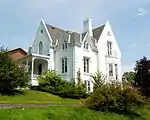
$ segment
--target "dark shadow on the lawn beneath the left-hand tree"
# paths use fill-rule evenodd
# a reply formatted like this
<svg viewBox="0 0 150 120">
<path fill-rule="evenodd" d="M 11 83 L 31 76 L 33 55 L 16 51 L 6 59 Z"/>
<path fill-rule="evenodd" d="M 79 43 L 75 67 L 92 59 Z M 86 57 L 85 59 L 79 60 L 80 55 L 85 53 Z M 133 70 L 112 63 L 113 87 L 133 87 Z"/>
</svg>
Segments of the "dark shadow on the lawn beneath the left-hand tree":
<svg viewBox="0 0 150 120">
<path fill-rule="evenodd" d="M 15 96 L 15 95 L 24 95 L 22 90 L 0 90 L 1 95 Z"/>
</svg>

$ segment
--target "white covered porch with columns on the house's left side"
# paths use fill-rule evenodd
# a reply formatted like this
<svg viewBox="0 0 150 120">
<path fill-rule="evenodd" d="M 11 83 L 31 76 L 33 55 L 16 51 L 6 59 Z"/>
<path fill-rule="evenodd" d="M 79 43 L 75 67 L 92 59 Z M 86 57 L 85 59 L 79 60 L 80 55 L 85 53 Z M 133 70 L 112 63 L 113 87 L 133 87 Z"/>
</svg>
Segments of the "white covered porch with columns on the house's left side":
<svg viewBox="0 0 150 120">
<path fill-rule="evenodd" d="M 50 68 L 50 57 L 39 55 L 39 54 L 29 54 L 24 58 L 19 60 L 21 66 L 24 66 L 25 70 L 30 75 L 30 85 L 37 86 L 37 77 L 44 71 Z"/>
</svg>

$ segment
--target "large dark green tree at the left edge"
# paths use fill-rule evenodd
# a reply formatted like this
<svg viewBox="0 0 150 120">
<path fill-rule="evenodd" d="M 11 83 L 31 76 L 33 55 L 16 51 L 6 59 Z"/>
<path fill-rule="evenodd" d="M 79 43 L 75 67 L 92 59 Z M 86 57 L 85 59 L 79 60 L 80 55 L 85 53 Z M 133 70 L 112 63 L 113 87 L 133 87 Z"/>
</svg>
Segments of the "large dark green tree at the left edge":
<svg viewBox="0 0 150 120">
<path fill-rule="evenodd" d="M 29 82 L 28 74 L 15 64 L 7 49 L 0 48 L 0 91 L 26 87 Z"/>
</svg>

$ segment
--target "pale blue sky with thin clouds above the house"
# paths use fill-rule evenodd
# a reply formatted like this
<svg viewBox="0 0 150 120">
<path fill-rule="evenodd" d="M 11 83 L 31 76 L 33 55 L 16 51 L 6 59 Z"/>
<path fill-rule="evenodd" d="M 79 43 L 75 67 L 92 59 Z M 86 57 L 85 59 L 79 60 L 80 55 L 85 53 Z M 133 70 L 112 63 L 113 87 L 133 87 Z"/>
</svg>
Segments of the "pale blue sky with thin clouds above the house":
<svg viewBox="0 0 150 120">
<path fill-rule="evenodd" d="M 28 49 L 41 18 L 46 23 L 82 32 L 110 21 L 122 52 L 123 72 L 150 56 L 150 0 L 0 0 L 0 44 Z"/>
</svg>

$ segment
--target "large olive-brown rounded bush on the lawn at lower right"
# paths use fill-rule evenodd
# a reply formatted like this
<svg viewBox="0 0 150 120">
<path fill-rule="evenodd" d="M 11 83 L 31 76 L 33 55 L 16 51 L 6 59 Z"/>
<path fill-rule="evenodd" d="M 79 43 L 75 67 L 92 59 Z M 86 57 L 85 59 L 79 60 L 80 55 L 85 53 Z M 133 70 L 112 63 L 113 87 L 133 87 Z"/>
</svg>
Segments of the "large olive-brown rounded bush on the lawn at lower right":
<svg viewBox="0 0 150 120">
<path fill-rule="evenodd" d="M 132 113 L 146 103 L 144 97 L 135 88 L 122 88 L 121 83 L 116 81 L 103 82 L 100 74 L 98 75 L 95 76 L 97 86 L 86 101 L 87 107 L 97 111 Z"/>
</svg>

